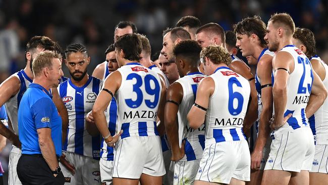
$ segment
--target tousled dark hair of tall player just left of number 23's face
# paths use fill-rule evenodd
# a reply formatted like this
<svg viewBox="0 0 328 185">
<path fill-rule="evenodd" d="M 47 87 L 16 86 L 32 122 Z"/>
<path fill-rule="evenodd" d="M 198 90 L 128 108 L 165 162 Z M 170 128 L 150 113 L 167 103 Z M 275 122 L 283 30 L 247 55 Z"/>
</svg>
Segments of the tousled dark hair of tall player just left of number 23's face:
<svg viewBox="0 0 328 185">
<path fill-rule="evenodd" d="M 234 25 L 234 31 L 235 33 L 245 34 L 247 36 L 255 34 L 260 39 L 261 47 L 266 47 L 266 41 L 264 40 L 266 25 L 262 21 L 261 17 L 254 16 L 243 19 Z"/>
</svg>

